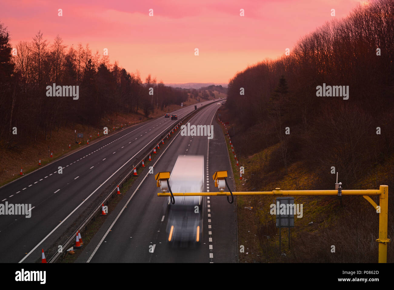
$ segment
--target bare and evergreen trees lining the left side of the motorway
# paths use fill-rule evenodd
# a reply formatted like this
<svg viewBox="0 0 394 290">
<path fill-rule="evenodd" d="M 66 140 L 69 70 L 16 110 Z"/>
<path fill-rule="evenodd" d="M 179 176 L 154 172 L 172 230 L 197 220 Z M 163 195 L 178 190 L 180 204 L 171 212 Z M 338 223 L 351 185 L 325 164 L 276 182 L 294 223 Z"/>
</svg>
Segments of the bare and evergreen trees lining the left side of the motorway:
<svg viewBox="0 0 394 290">
<path fill-rule="evenodd" d="M 79 98 L 47 97 L 47 86 L 79 86 Z M 150 88 L 153 88 L 153 95 Z M 97 126 L 113 113 L 139 113 L 180 105 L 190 90 L 167 87 L 151 75 L 142 82 L 108 55 L 89 45 L 67 46 L 59 35 L 49 43 L 39 31 L 32 41 L 11 45 L 0 22 L 0 140 L 12 146 L 13 128 L 19 142 L 50 138 L 54 129 L 79 123 Z"/>
</svg>

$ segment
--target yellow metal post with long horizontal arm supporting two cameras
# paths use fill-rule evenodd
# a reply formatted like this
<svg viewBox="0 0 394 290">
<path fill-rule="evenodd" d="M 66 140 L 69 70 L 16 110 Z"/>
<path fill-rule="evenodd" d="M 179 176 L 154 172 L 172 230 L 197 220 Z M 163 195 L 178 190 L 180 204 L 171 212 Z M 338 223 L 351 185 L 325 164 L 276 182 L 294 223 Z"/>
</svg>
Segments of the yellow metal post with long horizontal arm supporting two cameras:
<svg viewBox="0 0 394 290">
<path fill-rule="evenodd" d="M 156 178 L 157 179 L 157 178 Z M 215 196 L 215 195 L 231 195 L 230 192 L 173 192 L 173 196 Z M 338 190 L 281 190 L 275 188 L 273 191 L 237 191 L 232 192 L 232 195 L 338 195 Z M 387 243 L 390 239 L 387 238 L 387 217 L 388 217 L 388 186 L 381 185 L 379 190 L 342 190 L 342 195 L 363 195 L 375 210 L 379 212 L 379 263 L 387 262 Z M 370 195 L 379 195 L 379 206 L 372 201 Z M 157 196 L 171 196 L 169 192 L 159 192 Z M 380 207 L 380 208 L 379 208 Z"/>
</svg>

